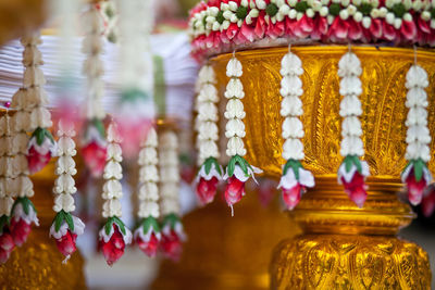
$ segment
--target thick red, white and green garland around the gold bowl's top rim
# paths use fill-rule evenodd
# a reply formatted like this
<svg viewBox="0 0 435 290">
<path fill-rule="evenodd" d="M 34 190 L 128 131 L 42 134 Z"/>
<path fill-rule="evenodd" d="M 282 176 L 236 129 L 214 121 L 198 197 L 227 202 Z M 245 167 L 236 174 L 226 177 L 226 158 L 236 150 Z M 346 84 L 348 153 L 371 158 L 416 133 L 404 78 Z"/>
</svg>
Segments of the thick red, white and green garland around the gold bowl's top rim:
<svg viewBox="0 0 435 290">
<path fill-rule="evenodd" d="M 431 1 L 406 0 L 209 0 L 190 11 L 188 25 L 198 58 L 276 38 L 433 47 L 434 9 Z"/>
</svg>

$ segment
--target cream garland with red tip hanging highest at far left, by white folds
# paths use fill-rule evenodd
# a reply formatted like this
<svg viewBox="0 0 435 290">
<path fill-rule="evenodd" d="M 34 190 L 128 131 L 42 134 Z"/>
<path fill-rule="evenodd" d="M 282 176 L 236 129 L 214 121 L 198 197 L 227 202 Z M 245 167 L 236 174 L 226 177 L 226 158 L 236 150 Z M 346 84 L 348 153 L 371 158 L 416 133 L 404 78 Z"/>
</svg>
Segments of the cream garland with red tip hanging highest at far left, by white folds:
<svg viewBox="0 0 435 290">
<path fill-rule="evenodd" d="M 22 104 L 15 117 L 15 130 L 33 131 L 28 141 L 27 161 L 28 171 L 35 174 L 42 169 L 55 152 L 55 142 L 51 133 L 47 129 L 52 126 L 51 114 L 45 108 L 46 92 L 42 86 L 46 84 L 42 71 L 41 52 L 37 46 L 42 42 L 39 34 L 25 36 L 21 39 L 24 47 L 23 65 L 23 94 L 16 96 L 16 103 Z"/>
</svg>

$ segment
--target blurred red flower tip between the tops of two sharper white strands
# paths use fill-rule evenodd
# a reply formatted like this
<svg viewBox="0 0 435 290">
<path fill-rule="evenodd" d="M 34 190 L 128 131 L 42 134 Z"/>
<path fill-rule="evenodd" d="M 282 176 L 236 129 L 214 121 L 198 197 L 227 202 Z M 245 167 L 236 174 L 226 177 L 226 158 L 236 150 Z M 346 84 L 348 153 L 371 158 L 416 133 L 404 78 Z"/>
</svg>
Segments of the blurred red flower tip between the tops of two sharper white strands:
<svg viewBox="0 0 435 290">
<path fill-rule="evenodd" d="M 108 149 L 92 140 L 82 148 L 82 156 L 94 177 L 99 177 L 104 171 Z"/>
</svg>

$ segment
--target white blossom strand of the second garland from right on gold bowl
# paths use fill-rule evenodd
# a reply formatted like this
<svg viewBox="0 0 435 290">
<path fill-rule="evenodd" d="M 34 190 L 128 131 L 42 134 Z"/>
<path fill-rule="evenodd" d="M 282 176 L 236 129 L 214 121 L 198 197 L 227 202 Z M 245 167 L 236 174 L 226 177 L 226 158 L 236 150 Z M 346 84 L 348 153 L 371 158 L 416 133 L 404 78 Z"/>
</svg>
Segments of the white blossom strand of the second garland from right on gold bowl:
<svg viewBox="0 0 435 290">
<path fill-rule="evenodd" d="M 364 155 L 364 146 L 361 140 L 362 129 L 359 116 L 362 114 L 359 96 L 362 86 L 359 76 L 362 73 L 361 63 L 352 52 L 347 52 L 338 62 L 338 76 L 341 78 L 339 93 L 343 96 L 339 114 L 341 123 L 341 156 Z"/>
</svg>

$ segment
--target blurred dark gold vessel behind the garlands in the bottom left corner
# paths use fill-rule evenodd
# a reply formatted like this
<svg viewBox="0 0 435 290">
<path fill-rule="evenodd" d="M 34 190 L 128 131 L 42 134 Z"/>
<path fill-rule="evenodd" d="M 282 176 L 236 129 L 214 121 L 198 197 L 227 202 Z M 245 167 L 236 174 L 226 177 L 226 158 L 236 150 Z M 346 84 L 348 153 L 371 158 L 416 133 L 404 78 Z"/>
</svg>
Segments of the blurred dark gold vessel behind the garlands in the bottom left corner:
<svg viewBox="0 0 435 290">
<path fill-rule="evenodd" d="M 49 238 L 54 218 L 52 210 L 54 165 L 50 162 L 41 172 L 32 177 L 35 196 L 32 201 L 38 211 L 40 226 L 32 226 L 27 241 L 15 248 L 3 265 L 0 265 L 1 289 L 76 290 L 86 289 L 83 272 L 84 260 L 77 250 L 66 264 L 55 241 Z"/>
</svg>

